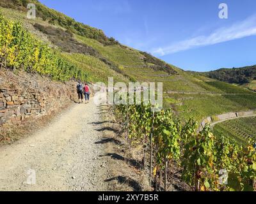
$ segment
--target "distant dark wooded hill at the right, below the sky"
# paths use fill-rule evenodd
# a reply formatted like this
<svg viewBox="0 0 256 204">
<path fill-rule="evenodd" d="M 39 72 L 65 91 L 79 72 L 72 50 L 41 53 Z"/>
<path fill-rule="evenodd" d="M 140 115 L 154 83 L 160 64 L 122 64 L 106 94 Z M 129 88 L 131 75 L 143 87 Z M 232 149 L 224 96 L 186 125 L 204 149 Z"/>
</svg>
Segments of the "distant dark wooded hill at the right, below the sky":
<svg viewBox="0 0 256 204">
<path fill-rule="evenodd" d="M 222 68 L 206 72 L 204 75 L 221 82 L 237 84 L 256 91 L 256 65 L 232 69 Z"/>
</svg>

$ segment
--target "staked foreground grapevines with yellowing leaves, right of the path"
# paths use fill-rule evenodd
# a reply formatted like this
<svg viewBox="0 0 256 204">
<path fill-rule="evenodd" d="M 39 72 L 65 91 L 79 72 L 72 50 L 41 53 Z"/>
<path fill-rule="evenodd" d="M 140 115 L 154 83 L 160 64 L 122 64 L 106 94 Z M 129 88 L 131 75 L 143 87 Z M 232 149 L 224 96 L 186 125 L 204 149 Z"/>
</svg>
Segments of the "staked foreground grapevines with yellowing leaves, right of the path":
<svg viewBox="0 0 256 204">
<path fill-rule="evenodd" d="M 172 110 L 152 112 L 151 108 L 143 103 L 115 105 L 113 111 L 131 147 L 143 144 L 143 164 L 150 169 L 150 184 L 156 191 L 167 189 L 173 165 L 180 167 L 182 179 L 195 191 L 256 190 L 256 152 L 251 140 L 244 147 L 231 138 L 214 136 L 209 126 L 197 133 L 194 119 L 180 122 Z M 227 184 L 221 180 L 223 170 L 228 173 Z"/>
</svg>

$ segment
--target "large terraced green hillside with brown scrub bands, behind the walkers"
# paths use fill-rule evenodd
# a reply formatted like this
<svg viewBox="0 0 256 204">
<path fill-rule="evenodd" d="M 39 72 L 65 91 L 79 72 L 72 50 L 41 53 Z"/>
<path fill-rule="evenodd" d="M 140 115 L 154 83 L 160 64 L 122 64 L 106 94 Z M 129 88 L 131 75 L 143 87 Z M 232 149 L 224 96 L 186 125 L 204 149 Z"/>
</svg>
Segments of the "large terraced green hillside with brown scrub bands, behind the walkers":
<svg viewBox="0 0 256 204">
<path fill-rule="evenodd" d="M 2 1 L 2 4 L 12 1 Z M 91 82 L 107 82 L 108 77 L 114 77 L 115 82 L 163 82 L 164 107 L 172 107 L 181 119 L 195 117 L 200 121 L 209 115 L 256 109 L 254 92 L 183 71 L 145 52 L 121 45 L 88 25 L 74 26 L 74 20 L 42 4 L 36 20 L 26 18 L 25 10 L 20 9 L 24 6 L 12 9 L 8 5 L 5 4 L 8 8 L 0 7 L 5 17 L 21 20 L 36 38 L 61 50 L 62 57 L 87 71 Z M 53 17 L 59 20 L 52 21 Z M 68 20 L 72 21 L 70 27 Z M 78 25 L 83 28 L 79 29 Z"/>
</svg>

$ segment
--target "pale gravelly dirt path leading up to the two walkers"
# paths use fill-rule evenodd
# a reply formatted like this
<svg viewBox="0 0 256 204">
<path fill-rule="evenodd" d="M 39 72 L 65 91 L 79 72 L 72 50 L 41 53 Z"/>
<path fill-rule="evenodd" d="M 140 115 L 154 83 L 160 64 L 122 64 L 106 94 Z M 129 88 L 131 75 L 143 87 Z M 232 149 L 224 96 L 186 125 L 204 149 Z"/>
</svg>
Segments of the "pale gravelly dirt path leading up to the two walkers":
<svg viewBox="0 0 256 204">
<path fill-rule="evenodd" d="M 0 147 L 0 191 L 107 191 L 99 112 L 93 101 L 73 105 L 44 129 Z"/>
</svg>

